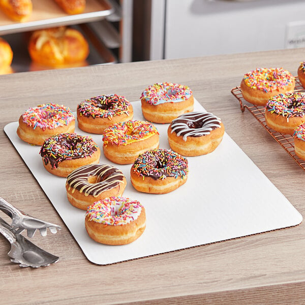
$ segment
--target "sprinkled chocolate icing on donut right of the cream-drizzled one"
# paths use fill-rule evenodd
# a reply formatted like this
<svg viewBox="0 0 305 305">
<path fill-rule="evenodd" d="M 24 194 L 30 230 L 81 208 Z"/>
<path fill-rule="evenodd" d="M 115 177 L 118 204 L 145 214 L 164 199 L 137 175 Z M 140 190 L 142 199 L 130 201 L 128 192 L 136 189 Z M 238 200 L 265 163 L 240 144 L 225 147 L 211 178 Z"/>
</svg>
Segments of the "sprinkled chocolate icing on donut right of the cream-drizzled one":
<svg viewBox="0 0 305 305">
<path fill-rule="evenodd" d="M 184 178 L 189 172 L 187 158 L 169 149 L 148 150 L 137 158 L 133 167 L 134 173 L 143 179 Z"/>
</svg>

